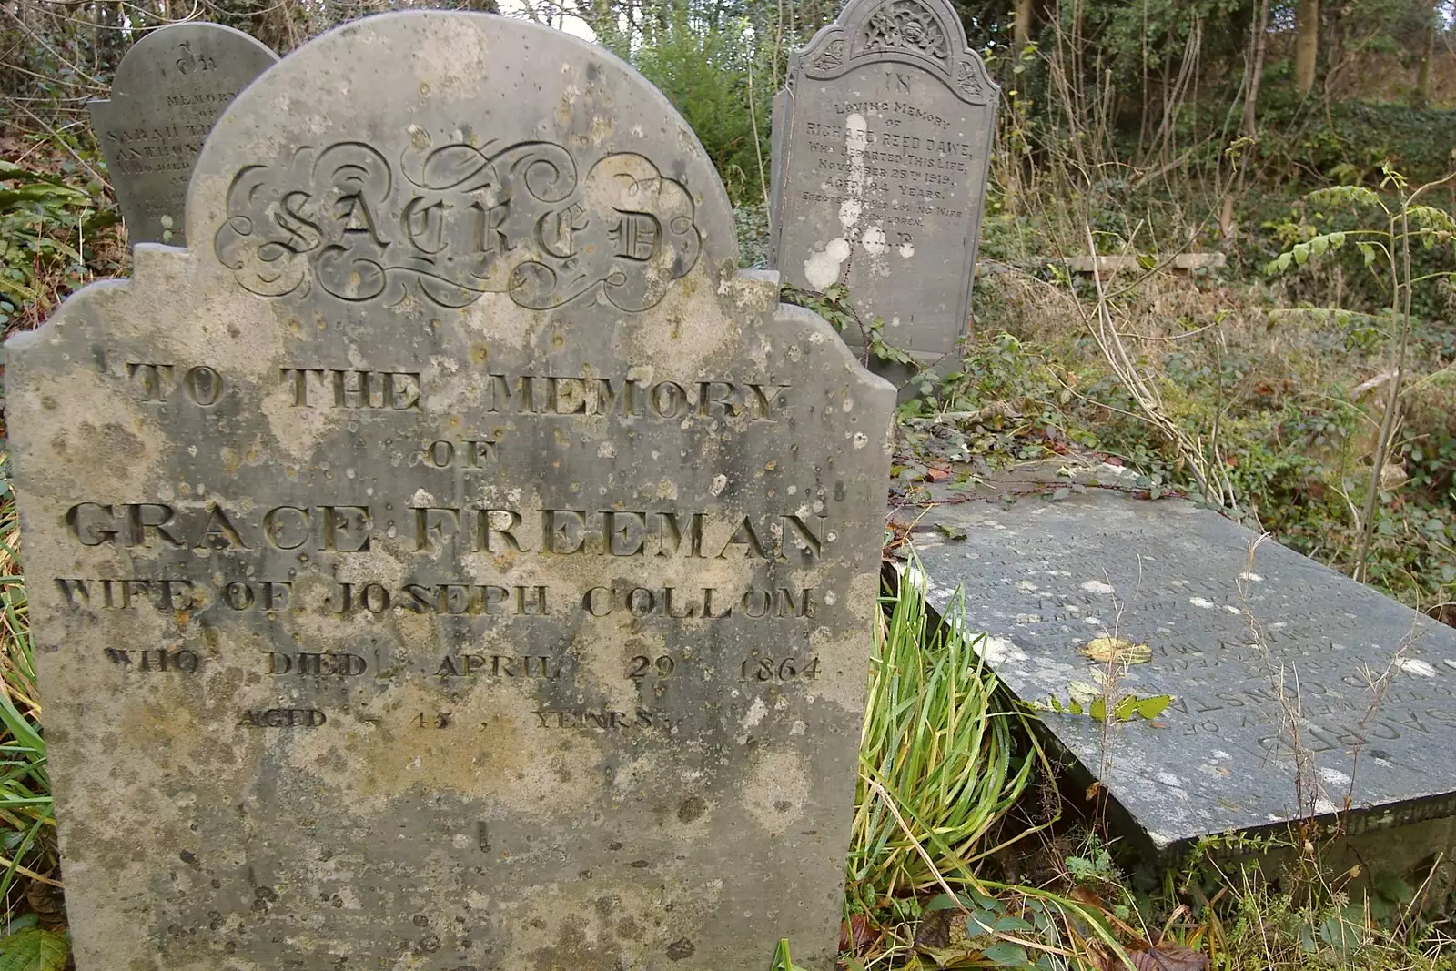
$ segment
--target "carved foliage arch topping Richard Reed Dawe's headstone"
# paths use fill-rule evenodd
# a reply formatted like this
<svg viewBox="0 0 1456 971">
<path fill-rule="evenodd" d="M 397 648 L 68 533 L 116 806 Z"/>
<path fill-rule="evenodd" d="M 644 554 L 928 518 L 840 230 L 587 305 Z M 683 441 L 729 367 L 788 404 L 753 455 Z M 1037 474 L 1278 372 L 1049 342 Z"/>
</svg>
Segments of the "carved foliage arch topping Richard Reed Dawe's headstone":
<svg viewBox="0 0 1456 971">
<path fill-rule="evenodd" d="M 980 54 L 965 42 L 965 28 L 945 0 L 852 0 L 839 17 L 795 52 L 807 77 L 842 77 L 865 63 L 904 61 L 936 74 L 970 105 L 994 103 L 1000 87 Z"/>
</svg>

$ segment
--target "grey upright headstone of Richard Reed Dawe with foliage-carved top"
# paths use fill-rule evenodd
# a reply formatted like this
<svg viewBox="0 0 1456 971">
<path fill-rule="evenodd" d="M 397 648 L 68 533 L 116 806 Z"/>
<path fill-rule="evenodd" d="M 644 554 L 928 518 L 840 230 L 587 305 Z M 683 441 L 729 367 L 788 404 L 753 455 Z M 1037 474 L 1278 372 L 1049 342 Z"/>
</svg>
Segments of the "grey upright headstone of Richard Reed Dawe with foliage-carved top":
<svg viewBox="0 0 1456 971">
<path fill-rule="evenodd" d="M 943 0 L 852 0 L 775 100 L 773 265 L 847 284 L 885 341 L 948 367 L 965 332 L 1000 89 Z M 844 332 L 862 342 L 853 328 Z"/>
</svg>

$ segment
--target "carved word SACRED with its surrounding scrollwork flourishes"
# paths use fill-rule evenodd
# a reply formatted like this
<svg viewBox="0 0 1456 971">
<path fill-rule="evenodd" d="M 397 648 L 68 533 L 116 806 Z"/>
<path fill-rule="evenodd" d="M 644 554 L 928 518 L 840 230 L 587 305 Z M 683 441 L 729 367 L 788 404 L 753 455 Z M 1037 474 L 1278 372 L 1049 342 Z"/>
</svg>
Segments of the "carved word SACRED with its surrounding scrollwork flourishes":
<svg viewBox="0 0 1456 971">
<path fill-rule="evenodd" d="M 345 141 L 240 169 L 218 259 L 262 297 L 317 285 L 349 303 L 454 309 L 505 293 L 543 310 L 600 293 L 628 312 L 697 262 L 692 197 L 644 156 L 604 156 L 582 182 L 556 143 L 431 148 L 411 134 L 397 166 Z"/>
</svg>

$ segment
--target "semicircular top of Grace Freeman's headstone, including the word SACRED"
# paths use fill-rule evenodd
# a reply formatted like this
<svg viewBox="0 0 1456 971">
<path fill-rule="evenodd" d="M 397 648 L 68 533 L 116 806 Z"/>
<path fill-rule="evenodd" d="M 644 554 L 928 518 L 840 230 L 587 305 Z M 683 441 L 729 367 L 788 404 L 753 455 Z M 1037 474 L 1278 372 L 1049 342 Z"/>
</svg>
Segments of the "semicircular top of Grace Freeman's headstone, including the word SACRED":
<svg viewBox="0 0 1456 971">
<path fill-rule="evenodd" d="M 380 15 L 280 63 L 208 140 L 188 230 L 250 293 L 344 304 L 635 313 L 737 265 L 722 181 L 651 83 L 480 13 Z"/>
</svg>

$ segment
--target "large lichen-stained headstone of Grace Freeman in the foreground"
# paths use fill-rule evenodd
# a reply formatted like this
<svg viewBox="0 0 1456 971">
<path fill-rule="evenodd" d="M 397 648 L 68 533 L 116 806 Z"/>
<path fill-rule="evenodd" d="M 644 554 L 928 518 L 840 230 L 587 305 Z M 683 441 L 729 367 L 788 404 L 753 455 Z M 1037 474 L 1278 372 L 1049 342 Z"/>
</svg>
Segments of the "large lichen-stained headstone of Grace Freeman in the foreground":
<svg viewBox="0 0 1456 971">
<path fill-rule="evenodd" d="M 290 55 L 9 357 L 79 971 L 828 970 L 893 389 L 555 31 Z"/>
</svg>

